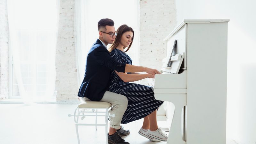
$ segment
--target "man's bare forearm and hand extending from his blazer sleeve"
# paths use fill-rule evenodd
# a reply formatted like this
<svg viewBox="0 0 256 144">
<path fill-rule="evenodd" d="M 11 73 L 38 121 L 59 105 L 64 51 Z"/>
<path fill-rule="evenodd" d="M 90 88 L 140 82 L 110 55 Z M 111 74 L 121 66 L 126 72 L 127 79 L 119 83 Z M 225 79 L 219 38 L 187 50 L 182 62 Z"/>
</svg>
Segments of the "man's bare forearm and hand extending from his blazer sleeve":
<svg viewBox="0 0 256 144">
<path fill-rule="evenodd" d="M 155 76 L 155 74 L 160 74 L 160 72 L 156 69 L 141 67 L 141 66 L 133 66 L 133 65 L 129 65 L 129 64 L 125 65 L 125 70 L 124 70 L 124 72 L 130 72 L 130 73 L 144 72 L 144 71 L 147 72 L 148 74 L 151 74 L 154 76 Z"/>
</svg>

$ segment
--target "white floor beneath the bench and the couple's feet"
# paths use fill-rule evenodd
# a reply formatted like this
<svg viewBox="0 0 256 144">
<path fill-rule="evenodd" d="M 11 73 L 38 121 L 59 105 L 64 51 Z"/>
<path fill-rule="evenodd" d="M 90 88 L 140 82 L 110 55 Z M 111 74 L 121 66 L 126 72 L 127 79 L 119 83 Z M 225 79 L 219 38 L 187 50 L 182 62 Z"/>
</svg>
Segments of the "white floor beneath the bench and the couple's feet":
<svg viewBox="0 0 256 144">
<path fill-rule="evenodd" d="M 73 114 L 77 105 L 0 104 L 0 144 L 77 144 Z M 151 142 L 138 131 L 143 119 L 123 124 L 131 134 L 123 137 L 130 144 L 166 144 Z M 161 126 L 161 124 L 159 125 Z M 81 144 L 104 144 L 104 127 L 80 126 Z"/>
</svg>

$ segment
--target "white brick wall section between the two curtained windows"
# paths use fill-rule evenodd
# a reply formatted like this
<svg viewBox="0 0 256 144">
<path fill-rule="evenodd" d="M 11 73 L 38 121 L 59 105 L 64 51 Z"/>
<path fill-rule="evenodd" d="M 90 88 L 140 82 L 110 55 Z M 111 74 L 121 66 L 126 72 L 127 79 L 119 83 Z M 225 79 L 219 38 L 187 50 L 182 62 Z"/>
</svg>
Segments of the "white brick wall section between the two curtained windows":
<svg viewBox="0 0 256 144">
<path fill-rule="evenodd" d="M 56 47 L 57 101 L 77 100 L 74 6 L 74 0 L 60 0 L 59 31 Z"/>
</svg>

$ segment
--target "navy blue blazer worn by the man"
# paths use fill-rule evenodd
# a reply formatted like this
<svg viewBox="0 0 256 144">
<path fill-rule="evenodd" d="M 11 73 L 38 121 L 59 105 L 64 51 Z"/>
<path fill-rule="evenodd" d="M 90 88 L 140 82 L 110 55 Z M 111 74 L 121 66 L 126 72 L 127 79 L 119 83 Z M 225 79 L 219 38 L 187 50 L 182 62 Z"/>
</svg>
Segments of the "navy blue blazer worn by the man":
<svg viewBox="0 0 256 144">
<path fill-rule="evenodd" d="M 87 55 L 84 80 L 77 96 L 100 101 L 108 89 L 111 69 L 124 72 L 125 63 L 112 58 L 106 47 L 97 39 Z"/>
</svg>

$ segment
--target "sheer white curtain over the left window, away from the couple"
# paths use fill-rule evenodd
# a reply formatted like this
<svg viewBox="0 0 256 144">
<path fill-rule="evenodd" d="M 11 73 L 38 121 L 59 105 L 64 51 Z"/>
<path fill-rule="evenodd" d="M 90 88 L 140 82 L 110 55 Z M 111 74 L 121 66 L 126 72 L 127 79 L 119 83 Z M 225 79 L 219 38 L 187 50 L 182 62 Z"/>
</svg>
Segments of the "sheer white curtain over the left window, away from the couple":
<svg viewBox="0 0 256 144">
<path fill-rule="evenodd" d="M 12 92 L 25 104 L 49 101 L 56 80 L 59 0 L 8 0 L 7 6 Z"/>
</svg>

